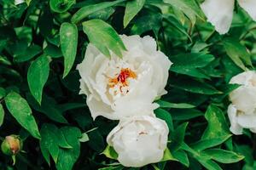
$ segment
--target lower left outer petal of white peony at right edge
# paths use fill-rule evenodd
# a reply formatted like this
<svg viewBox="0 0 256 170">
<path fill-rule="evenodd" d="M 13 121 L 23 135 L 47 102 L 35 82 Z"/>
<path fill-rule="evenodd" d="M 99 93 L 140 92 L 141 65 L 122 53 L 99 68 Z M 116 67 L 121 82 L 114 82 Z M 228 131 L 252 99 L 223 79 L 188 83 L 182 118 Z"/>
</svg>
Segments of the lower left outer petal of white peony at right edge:
<svg viewBox="0 0 256 170">
<path fill-rule="evenodd" d="M 230 119 L 230 132 L 236 135 L 242 134 L 242 127 L 237 122 L 235 105 L 229 105 L 228 116 Z"/>
</svg>

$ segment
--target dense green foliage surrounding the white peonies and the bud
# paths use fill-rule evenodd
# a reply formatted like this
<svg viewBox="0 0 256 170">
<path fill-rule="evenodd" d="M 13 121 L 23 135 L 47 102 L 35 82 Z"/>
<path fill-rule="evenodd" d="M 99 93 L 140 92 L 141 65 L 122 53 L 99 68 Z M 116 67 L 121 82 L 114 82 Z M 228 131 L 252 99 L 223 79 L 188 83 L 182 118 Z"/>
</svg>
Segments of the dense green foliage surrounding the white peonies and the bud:
<svg viewBox="0 0 256 170">
<path fill-rule="evenodd" d="M 92 121 L 75 70 L 88 42 L 121 55 L 118 34 L 154 37 L 174 63 L 155 111 L 170 128 L 170 152 L 141 169 L 255 169 L 255 135 L 231 135 L 226 110 L 237 88 L 230 77 L 255 64 L 256 24 L 237 6 L 230 33 L 219 36 L 200 3 L 1 0 L 0 136 L 19 134 L 24 152 L 15 166 L 0 152 L 0 169 L 139 169 L 119 165 L 109 148 L 102 154 L 118 122 Z"/>
</svg>

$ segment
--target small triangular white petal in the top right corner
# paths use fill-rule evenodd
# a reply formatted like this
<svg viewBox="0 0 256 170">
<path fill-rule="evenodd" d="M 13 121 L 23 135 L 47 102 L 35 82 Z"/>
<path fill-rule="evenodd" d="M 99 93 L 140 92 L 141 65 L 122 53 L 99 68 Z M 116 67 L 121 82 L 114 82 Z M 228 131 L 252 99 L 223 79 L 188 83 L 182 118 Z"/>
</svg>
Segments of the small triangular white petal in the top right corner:
<svg viewBox="0 0 256 170">
<path fill-rule="evenodd" d="M 243 8 L 247 13 L 252 17 L 253 20 L 256 20 L 256 1 L 255 0 L 237 0 L 241 8 Z"/>
</svg>

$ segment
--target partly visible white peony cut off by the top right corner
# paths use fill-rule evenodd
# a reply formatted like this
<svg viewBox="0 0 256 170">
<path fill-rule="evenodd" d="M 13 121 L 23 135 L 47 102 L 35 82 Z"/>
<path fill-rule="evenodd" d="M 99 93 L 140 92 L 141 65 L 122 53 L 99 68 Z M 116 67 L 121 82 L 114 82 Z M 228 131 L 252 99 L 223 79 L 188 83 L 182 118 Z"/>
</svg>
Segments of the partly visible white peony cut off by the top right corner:
<svg viewBox="0 0 256 170">
<path fill-rule="evenodd" d="M 256 20 L 256 1 L 255 0 L 237 0 L 241 8 Z M 215 26 L 220 34 L 227 33 L 233 19 L 233 10 L 235 0 L 206 0 L 201 4 L 202 11 L 206 14 L 207 20 Z"/>
</svg>

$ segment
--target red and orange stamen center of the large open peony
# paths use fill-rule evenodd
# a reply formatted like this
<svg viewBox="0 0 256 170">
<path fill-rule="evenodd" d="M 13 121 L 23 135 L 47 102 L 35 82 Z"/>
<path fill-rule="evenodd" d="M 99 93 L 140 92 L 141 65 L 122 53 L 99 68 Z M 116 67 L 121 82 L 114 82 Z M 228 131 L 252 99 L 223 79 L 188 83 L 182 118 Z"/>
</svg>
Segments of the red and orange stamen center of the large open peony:
<svg viewBox="0 0 256 170">
<path fill-rule="evenodd" d="M 129 86 L 127 79 L 128 78 L 137 78 L 137 75 L 134 71 L 131 71 L 129 68 L 121 69 L 119 75 L 117 77 L 113 77 L 109 79 L 108 86 L 110 88 L 114 88 L 116 85 L 119 85 L 119 89 L 122 92 L 123 87 Z"/>
</svg>

